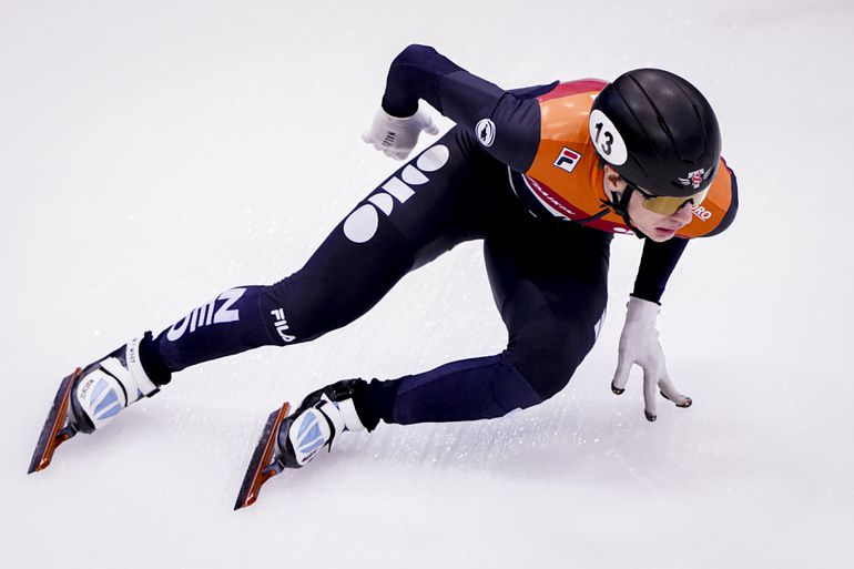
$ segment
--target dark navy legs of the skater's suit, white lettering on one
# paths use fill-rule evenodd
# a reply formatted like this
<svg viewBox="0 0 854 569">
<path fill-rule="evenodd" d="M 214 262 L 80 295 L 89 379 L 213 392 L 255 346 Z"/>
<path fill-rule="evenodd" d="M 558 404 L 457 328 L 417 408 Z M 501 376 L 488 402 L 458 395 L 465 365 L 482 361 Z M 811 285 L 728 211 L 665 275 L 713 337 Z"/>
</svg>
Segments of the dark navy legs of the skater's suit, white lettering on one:
<svg viewBox="0 0 854 569">
<path fill-rule="evenodd" d="M 453 129 L 373 191 L 306 265 L 271 286 L 226 291 L 154 341 L 170 372 L 263 345 L 314 339 L 369 311 L 407 273 L 484 240 L 508 331 L 497 355 L 360 385 L 356 407 L 386 423 L 499 417 L 562 389 L 590 352 L 607 302 L 611 235 L 532 216 L 507 166 Z"/>
</svg>

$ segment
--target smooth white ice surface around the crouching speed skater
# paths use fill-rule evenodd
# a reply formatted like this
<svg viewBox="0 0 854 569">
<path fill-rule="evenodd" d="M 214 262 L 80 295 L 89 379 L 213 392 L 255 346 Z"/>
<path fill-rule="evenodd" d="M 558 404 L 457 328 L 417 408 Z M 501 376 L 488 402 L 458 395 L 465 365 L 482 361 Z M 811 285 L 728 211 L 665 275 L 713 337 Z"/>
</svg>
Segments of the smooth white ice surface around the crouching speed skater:
<svg viewBox="0 0 854 569">
<path fill-rule="evenodd" d="M 2 0 L 0 566 L 854 566 L 852 27 L 850 1 Z M 359 133 L 411 42 L 508 88 L 657 65 L 706 93 L 742 203 L 664 298 L 694 406 L 648 424 L 637 376 L 608 388 L 640 251 L 618 238 L 563 393 L 347 436 L 233 512 L 283 399 L 501 348 L 468 244 L 348 328 L 190 369 L 26 476 L 64 374 L 297 270 L 396 167 Z"/>
</svg>

